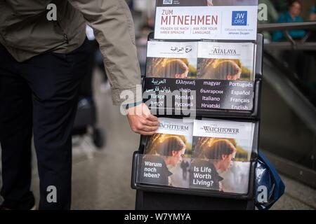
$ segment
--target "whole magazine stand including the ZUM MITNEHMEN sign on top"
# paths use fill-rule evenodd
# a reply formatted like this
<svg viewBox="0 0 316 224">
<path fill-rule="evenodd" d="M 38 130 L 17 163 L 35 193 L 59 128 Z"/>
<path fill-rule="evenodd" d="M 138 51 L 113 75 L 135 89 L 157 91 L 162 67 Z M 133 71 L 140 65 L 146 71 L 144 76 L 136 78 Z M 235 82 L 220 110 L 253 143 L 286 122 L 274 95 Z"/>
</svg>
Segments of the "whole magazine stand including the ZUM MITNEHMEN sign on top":
<svg viewBox="0 0 316 224">
<path fill-rule="evenodd" d="M 216 208 L 219 201 L 224 207 L 232 201 L 231 204 L 254 202 L 263 78 L 263 35 L 256 34 L 255 19 L 258 1 L 190 1 L 190 6 L 214 6 L 211 14 L 208 7 L 177 8 L 189 6 L 183 2 L 157 0 L 156 35 L 148 36 L 143 102 L 163 124 L 151 137 L 141 136 L 138 151 L 133 153 L 131 187 L 137 190 L 136 207 L 147 209 L 156 203 L 159 208 L 168 209 L 169 203 L 174 202 L 170 208 L 187 204 L 181 208 L 205 209 L 212 208 L 212 203 Z M 192 127 L 184 125 L 187 132 L 182 134 L 178 127 L 183 125 L 176 121 L 180 118 L 193 120 Z M 175 126 L 176 131 L 171 128 Z M 176 144 L 165 147 L 165 142 Z M 162 148 L 168 148 L 168 153 Z M 229 153 L 223 153 L 223 149 Z M 170 151 L 181 155 L 171 155 Z M 171 156 L 179 158 L 178 163 L 176 158 L 170 163 L 167 159 Z M 189 167 L 189 181 L 187 169 L 183 169 L 182 182 L 174 180 L 180 179 L 181 160 Z M 220 163 L 223 160 L 225 165 Z M 202 171 L 204 168 L 209 173 Z M 232 181 L 231 186 L 242 183 L 241 188 L 223 184 L 231 181 L 227 175 L 239 171 L 243 181 Z M 202 172 L 206 176 L 200 177 Z M 216 180 L 215 184 L 210 180 Z M 178 195 L 187 195 L 190 200 L 185 202 Z M 212 202 L 212 198 L 216 200 Z M 190 202 L 195 202 L 195 206 Z M 197 206 L 199 202 L 205 207 Z M 251 205 L 246 207 L 253 209 Z"/>
</svg>

